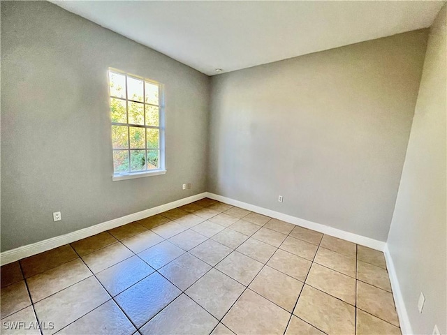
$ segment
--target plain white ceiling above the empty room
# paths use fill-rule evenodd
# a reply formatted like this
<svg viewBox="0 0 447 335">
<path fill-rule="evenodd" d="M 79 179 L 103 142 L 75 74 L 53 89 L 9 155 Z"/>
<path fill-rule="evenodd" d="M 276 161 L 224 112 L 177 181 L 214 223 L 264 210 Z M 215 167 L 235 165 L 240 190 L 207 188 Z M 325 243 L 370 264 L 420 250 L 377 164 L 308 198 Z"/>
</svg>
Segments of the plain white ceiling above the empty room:
<svg viewBox="0 0 447 335">
<path fill-rule="evenodd" d="M 207 75 L 430 27 L 444 1 L 56 1 Z"/>
</svg>

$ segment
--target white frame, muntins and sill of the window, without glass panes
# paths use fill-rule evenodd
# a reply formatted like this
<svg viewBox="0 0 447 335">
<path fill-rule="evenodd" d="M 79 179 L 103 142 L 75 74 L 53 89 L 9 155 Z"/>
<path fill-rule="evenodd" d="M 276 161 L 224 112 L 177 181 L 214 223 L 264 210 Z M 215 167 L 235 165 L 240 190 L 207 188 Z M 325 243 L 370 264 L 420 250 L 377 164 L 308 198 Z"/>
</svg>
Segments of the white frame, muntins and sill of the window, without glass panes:
<svg viewBox="0 0 447 335">
<path fill-rule="evenodd" d="M 117 73 L 119 75 L 124 75 L 126 77 L 126 87 L 125 87 L 125 91 L 126 91 L 126 97 L 125 98 L 121 98 L 121 97 L 117 97 L 117 96 L 112 96 L 111 92 L 110 92 L 110 81 L 109 81 L 109 75 L 110 72 L 112 73 Z M 111 114 L 110 114 L 110 129 L 112 129 L 112 126 L 127 126 L 127 135 L 128 135 L 128 148 L 127 151 L 129 151 L 129 171 L 125 171 L 125 172 L 113 172 L 113 176 L 112 176 L 112 180 L 113 181 L 119 181 L 119 180 L 125 180 L 125 179 L 134 179 L 134 178 L 140 178 L 140 177 L 149 177 L 149 176 L 156 176 L 156 175 L 160 175 L 160 174 L 166 174 L 166 165 L 165 165 L 165 156 L 166 156 L 166 151 L 165 151 L 165 103 L 164 103 L 164 85 L 161 84 L 160 82 L 156 82 L 155 80 L 150 80 L 148 78 L 145 77 L 140 77 L 138 75 L 133 75 L 131 73 L 126 73 L 122 70 L 118 70 L 116 68 L 109 68 L 107 71 L 107 77 L 108 77 L 108 102 L 109 102 L 109 113 L 110 113 L 110 98 L 115 98 L 115 99 L 119 99 L 121 101 L 125 101 L 126 102 L 126 117 L 127 117 L 127 122 L 125 124 L 123 123 L 119 123 L 119 122 L 112 122 L 111 119 Z M 137 124 L 129 124 L 129 102 L 135 102 L 135 103 L 141 103 L 141 101 L 133 101 L 132 99 L 129 99 L 129 97 L 127 96 L 128 92 L 127 92 L 127 78 L 131 77 L 131 78 L 135 78 L 138 80 L 142 80 L 143 81 L 143 104 L 144 104 L 144 125 L 137 125 Z M 156 86 L 159 87 L 159 105 L 154 105 L 152 103 L 146 103 L 146 99 L 145 99 L 145 89 L 146 89 L 146 85 L 145 82 L 148 82 L 150 84 L 155 84 Z M 146 105 L 152 105 L 152 106 L 156 106 L 159 107 L 159 126 L 146 126 Z M 131 149 L 131 141 L 130 141 L 130 127 L 138 127 L 138 128 L 145 128 L 145 129 L 159 129 L 159 168 L 158 169 L 152 169 L 152 170 L 140 170 L 140 171 L 135 171 L 135 172 L 131 172 L 130 168 L 131 168 L 131 151 L 133 150 L 145 150 L 145 155 L 147 155 L 147 150 L 149 150 L 147 148 L 147 140 L 145 138 L 145 148 L 144 149 Z M 145 131 L 145 136 L 146 136 L 146 131 Z M 112 154 L 114 151 L 119 151 L 119 150 L 126 150 L 126 149 L 114 149 L 112 147 Z M 112 155 L 113 156 L 113 155 Z M 147 156 L 146 156 L 146 163 L 147 163 Z M 147 168 L 147 164 L 146 164 L 146 168 Z"/>
</svg>

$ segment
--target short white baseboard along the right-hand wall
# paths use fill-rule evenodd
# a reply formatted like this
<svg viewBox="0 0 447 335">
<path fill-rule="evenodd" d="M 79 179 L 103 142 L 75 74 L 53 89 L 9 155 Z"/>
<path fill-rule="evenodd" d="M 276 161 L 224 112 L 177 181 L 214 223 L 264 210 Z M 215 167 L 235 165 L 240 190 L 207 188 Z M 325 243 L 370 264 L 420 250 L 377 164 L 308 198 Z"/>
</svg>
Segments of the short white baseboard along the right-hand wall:
<svg viewBox="0 0 447 335">
<path fill-rule="evenodd" d="M 388 275 L 390 276 L 391 288 L 393 290 L 394 302 L 397 309 L 397 315 L 399 315 L 400 329 L 403 335 L 413 334 L 413 329 L 411 329 L 410 318 L 406 312 L 406 307 L 404 303 L 404 297 L 402 297 L 402 291 L 400 290 L 399 281 L 397 280 L 396 269 L 394 267 L 393 258 L 391 258 L 390 250 L 388 249 L 388 244 L 385 246 L 383 251 L 385 254 L 386 267 L 388 269 Z"/>
</svg>

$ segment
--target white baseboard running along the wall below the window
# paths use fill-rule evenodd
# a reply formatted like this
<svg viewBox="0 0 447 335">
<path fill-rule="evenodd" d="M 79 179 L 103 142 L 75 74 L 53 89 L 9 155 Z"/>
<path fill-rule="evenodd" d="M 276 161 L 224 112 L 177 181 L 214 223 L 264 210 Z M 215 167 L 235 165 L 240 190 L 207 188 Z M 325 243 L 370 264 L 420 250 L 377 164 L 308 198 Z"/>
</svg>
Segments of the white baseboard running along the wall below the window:
<svg viewBox="0 0 447 335">
<path fill-rule="evenodd" d="M 99 234 L 105 230 L 110 230 L 112 228 L 117 228 L 120 225 L 126 225 L 133 221 L 141 220 L 142 218 L 147 218 L 147 216 L 152 216 L 155 214 L 163 213 L 163 211 L 168 211 L 184 204 L 189 204 L 193 201 L 205 198 L 207 193 L 200 193 L 196 195 L 191 195 L 191 197 L 183 198 L 168 204 L 162 204 L 161 206 L 152 207 L 150 209 L 145 209 L 144 211 L 138 211 L 137 213 L 122 216 L 121 218 L 114 218 L 113 220 L 106 221 L 103 223 L 98 223 L 97 225 L 92 225 L 91 227 L 76 230 L 75 232 L 70 232 L 57 237 L 52 237 L 51 239 L 45 239 L 33 244 L 28 244 L 27 246 L 20 246 L 18 248 L 4 251 L 0 253 L 0 264 L 5 265 L 16 260 L 21 260 L 38 253 L 43 253 L 43 251 L 50 250 L 52 248 L 57 248 L 58 246 L 63 246 L 64 244 L 72 243 L 78 241 L 79 239 L 85 239 L 86 237 Z"/>
</svg>

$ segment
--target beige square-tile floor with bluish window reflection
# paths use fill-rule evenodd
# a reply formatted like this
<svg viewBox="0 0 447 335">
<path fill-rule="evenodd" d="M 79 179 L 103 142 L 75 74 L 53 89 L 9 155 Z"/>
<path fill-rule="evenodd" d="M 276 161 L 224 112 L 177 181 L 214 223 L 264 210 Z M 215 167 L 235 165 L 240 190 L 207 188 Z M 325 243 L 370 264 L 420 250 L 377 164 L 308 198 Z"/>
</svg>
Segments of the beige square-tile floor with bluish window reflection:
<svg viewBox="0 0 447 335">
<path fill-rule="evenodd" d="M 206 198 L 4 265 L 1 325 L 45 335 L 400 334 L 383 253 Z"/>
</svg>

